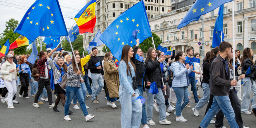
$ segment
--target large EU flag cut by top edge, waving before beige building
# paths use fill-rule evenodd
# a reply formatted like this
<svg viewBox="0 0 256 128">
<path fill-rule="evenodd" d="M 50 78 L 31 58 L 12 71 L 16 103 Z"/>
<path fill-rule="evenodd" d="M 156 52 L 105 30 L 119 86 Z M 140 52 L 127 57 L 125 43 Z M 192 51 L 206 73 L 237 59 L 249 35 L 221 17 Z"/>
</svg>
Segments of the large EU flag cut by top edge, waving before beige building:
<svg viewBox="0 0 256 128">
<path fill-rule="evenodd" d="M 181 20 L 181 23 L 178 25 L 178 29 L 185 27 L 190 22 L 199 20 L 201 15 L 211 12 L 224 3 L 230 1 L 232 0 L 197 0 Z"/>
</svg>

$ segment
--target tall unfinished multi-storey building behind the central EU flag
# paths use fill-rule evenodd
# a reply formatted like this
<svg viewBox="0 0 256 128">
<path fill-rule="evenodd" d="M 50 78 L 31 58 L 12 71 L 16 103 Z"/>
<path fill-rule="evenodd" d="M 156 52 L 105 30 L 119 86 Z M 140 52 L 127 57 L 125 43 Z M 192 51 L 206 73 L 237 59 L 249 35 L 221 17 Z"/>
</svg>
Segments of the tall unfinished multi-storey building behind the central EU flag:
<svg viewBox="0 0 256 128">
<path fill-rule="evenodd" d="M 88 1 L 88 0 L 87 0 Z M 131 8 L 133 5 L 141 0 L 97 0 L 95 15 L 96 25 L 93 33 L 88 33 L 85 46 L 88 47 L 89 42 L 94 35 L 101 29 L 101 33 L 123 12 Z M 167 13 L 171 10 L 171 0 L 144 0 L 145 9 L 148 18 Z M 84 41 L 86 33 L 84 33 Z M 101 51 L 104 45 L 98 46 L 98 55 L 104 56 Z"/>
</svg>

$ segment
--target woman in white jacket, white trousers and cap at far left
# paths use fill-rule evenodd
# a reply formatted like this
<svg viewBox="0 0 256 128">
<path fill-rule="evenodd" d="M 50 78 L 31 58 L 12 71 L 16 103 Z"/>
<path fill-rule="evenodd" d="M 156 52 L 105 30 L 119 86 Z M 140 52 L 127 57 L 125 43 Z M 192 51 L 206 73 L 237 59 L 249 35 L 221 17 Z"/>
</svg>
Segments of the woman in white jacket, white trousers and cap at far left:
<svg viewBox="0 0 256 128">
<path fill-rule="evenodd" d="M 8 104 L 8 108 L 13 109 L 13 96 L 17 93 L 17 71 L 16 64 L 13 62 L 13 55 L 8 54 L 5 61 L 1 66 L 1 77 L 4 79 L 5 87 L 8 89 L 8 97 L 4 101 Z"/>
</svg>

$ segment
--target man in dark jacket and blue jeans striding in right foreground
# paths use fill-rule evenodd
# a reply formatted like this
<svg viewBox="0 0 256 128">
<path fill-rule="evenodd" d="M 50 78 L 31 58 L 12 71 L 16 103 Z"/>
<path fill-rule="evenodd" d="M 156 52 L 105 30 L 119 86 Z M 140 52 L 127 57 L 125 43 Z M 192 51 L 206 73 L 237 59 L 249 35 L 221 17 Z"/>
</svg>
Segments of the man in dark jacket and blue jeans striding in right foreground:
<svg viewBox="0 0 256 128">
<path fill-rule="evenodd" d="M 204 116 L 199 128 L 206 128 L 214 115 L 222 110 L 231 128 L 239 128 L 236 123 L 234 110 L 231 106 L 229 95 L 230 86 L 236 86 L 237 80 L 229 81 L 229 67 L 227 59 L 231 53 L 232 45 L 226 41 L 219 44 L 220 54 L 211 64 L 211 90 L 213 103 L 207 114 Z"/>
</svg>

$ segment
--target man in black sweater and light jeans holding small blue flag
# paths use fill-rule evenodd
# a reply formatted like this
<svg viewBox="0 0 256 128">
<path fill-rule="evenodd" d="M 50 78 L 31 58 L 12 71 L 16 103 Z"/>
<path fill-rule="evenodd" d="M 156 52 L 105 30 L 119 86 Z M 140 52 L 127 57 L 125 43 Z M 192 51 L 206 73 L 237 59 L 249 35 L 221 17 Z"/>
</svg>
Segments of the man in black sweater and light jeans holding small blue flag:
<svg viewBox="0 0 256 128">
<path fill-rule="evenodd" d="M 104 87 L 103 79 L 104 71 L 102 68 L 102 63 L 100 57 L 97 56 L 98 54 L 98 48 L 93 47 L 91 51 L 96 51 L 93 53 L 93 56 L 91 56 L 91 59 L 88 61 L 88 69 L 90 69 L 91 72 L 91 81 L 93 83 L 93 92 L 92 92 L 92 103 L 99 103 L 99 99 L 97 98 L 98 94 L 100 93 L 101 89 Z M 100 65 L 96 66 L 96 63 L 100 63 Z M 97 87 L 97 84 L 99 87 Z"/>
</svg>

